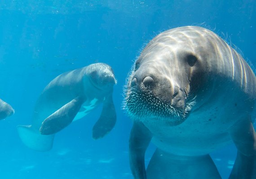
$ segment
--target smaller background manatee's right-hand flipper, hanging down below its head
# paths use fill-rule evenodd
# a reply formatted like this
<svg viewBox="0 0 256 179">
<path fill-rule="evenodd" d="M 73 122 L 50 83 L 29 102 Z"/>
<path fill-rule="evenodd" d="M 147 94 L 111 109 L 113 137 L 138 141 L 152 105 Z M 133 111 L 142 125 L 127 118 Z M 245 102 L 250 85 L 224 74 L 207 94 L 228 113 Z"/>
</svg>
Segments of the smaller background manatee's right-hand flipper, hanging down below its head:
<svg viewBox="0 0 256 179">
<path fill-rule="evenodd" d="M 105 136 L 114 128 L 116 122 L 115 106 L 110 94 L 103 102 L 102 114 L 93 126 L 93 139 Z"/>
</svg>

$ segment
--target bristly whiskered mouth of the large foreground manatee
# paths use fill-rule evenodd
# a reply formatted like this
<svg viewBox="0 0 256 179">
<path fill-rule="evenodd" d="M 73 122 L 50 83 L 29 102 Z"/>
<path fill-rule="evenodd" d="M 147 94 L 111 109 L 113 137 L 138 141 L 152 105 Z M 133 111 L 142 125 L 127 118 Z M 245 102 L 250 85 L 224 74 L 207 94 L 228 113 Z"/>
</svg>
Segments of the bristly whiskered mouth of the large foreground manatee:
<svg viewBox="0 0 256 179">
<path fill-rule="evenodd" d="M 185 107 L 175 107 L 172 102 L 166 102 L 155 96 L 151 91 L 128 90 L 124 108 L 133 119 L 164 120 L 169 125 L 178 125 L 185 121 L 192 107 L 195 105 L 195 97 L 188 96 Z"/>
</svg>

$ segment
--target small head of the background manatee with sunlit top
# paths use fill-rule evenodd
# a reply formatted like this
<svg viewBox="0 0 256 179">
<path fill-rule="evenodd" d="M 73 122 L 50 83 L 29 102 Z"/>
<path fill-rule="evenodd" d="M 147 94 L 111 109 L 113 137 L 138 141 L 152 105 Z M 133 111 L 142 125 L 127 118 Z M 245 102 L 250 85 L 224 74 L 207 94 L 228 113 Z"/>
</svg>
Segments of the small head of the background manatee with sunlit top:
<svg viewBox="0 0 256 179">
<path fill-rule="evenodd" d="M 108 64 L 91 64 L 87 68 L 87 77 L 92 85 L 99 90 L 111 90 L 117 83 L 114 72 Z"/>
</svg>

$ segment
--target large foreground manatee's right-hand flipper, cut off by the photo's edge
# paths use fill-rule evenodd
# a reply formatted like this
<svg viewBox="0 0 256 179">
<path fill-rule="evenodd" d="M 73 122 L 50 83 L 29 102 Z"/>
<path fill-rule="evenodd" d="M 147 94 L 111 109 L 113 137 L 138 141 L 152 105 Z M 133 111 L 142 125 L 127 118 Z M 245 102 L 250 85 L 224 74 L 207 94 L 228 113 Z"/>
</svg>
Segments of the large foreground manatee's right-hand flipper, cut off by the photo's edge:
<svg viewBox="0 0 256 179">
<path fill-rule="evenodd" d="M 230 129 L 238 149 L 230 179 L 256 179 L 256 133 L 250 117 Z"/>
</svg>

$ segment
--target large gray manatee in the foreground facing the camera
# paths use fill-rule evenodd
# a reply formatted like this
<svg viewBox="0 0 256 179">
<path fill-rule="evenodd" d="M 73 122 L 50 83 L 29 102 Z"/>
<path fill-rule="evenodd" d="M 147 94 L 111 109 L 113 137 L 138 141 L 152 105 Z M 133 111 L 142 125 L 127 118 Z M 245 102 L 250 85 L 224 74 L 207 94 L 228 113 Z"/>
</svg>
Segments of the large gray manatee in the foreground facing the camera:
<svg viewBox="0 0 256 179">
<path fill-rule="evenodd" d="M 212 31 L 185 26 L 156 36 L 125 95 L 135 179 L 220 179 L 209 153 L 232 141 L 238 152 L 230 179 L 256 179 L 256 77 Z M 150 141 L 157 149 L 146 170 Z"/>
</svg>

